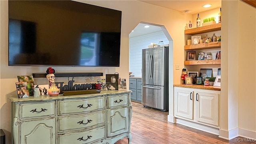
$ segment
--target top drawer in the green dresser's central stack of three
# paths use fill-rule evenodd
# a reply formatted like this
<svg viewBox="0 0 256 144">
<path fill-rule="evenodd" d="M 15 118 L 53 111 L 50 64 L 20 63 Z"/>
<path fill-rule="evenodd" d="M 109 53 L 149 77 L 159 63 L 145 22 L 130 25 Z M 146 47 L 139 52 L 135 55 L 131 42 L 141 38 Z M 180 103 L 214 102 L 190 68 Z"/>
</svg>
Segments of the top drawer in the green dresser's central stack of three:
<svg viewBox="0 0 256 144">
<path fill-rule="evenodd" d="M 58 114 L 81 114 L 103 110 L 105 108 L 105 97 L 87 98 L 81 100 L 60 100 L 58 101 Z"/>
</svg>

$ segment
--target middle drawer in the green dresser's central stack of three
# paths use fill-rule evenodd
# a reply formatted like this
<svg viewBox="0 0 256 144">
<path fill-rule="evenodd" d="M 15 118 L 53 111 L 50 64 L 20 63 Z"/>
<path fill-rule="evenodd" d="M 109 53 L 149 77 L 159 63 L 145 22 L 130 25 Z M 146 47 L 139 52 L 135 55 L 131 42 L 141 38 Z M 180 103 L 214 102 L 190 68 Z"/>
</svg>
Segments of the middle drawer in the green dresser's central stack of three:
<svg viewBox="0 0 256 144">
<path fill-rule="evenodd" d="M 58 118 L 58 131 L 79 130 L 105 123 L 105 112 Z"/>
</svg>

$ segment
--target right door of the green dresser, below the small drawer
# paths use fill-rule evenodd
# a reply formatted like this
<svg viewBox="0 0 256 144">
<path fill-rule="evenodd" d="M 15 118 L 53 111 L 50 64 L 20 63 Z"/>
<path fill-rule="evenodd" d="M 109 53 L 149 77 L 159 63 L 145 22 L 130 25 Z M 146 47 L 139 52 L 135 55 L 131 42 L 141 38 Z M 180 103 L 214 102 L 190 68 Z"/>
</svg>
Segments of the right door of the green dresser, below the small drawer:
<svg viewBox="0 0 256 144">
<path fill-rule="evenodd" d="M 129 112 L 128 107 L 107 111 L 107 137 L 129 131 Z"/>
</svg>

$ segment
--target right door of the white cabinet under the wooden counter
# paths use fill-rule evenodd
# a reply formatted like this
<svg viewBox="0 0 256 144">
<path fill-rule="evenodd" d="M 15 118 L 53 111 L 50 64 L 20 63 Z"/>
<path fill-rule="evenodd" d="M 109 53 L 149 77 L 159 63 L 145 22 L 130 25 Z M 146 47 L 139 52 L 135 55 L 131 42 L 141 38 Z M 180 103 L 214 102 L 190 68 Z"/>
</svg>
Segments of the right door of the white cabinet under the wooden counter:
<svg viewBox="0 0 256 144">
<path fill-rule="evenodd" d="M 196 93 L 197 121 L 219 125 L 219 94 L 214 92 Z"/>
</svg>

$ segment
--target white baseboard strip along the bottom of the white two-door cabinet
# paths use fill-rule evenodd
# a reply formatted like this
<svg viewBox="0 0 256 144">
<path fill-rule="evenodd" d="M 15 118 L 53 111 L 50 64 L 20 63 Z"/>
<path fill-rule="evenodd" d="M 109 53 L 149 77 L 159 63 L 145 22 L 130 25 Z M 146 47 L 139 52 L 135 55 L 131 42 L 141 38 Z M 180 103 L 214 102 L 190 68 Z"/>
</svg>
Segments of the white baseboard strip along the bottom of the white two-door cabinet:
<svg viewBox="0 0 256 144">
<path fill-rule="evenodd" d="M 182 119 L 176 118 L 176 123 L 182 124 L 184 126 L 188 126 L 190 128 L 195 128 L 197 130 L 202 130 L 204 132 L 209 132 L 211 134 L 215 134 L 215 135 L 220 134 L 218 128 L 212 128 L 210 126 L 204 126 L 202 124 L 197 124 L 195 122 L 190 122 L 190 121 L 187 121 L 187 120 L 182 120 Z"/>
</svg>

